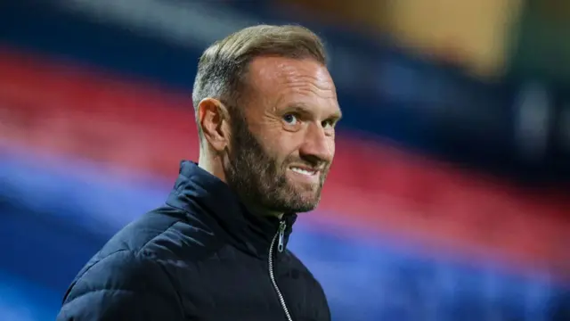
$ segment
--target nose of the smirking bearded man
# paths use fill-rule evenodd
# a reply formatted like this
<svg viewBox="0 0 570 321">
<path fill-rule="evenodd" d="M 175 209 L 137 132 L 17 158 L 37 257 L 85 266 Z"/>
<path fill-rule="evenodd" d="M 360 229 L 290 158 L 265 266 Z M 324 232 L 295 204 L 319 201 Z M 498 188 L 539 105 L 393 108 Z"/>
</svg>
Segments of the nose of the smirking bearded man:
<svg viewBox="0 0 570 321">
<path fill-rule="evenodd" d="M 314 165 L 330 163 L 335 154 L 334 136 L 325 135 L 320 124 L 309 124 L 299 154 L 305 161 L 310 161 Z"/>
</svg>

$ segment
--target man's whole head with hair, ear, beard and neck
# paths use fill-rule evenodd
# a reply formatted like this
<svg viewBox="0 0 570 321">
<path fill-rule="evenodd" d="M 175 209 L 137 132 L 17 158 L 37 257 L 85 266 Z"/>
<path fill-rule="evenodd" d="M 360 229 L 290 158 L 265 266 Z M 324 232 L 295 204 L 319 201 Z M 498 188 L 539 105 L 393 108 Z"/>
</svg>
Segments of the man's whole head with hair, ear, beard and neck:
<svg viewBox="0 0 570 321">
<path fill-rule="evenodd" d="M 322 41 L 298 26 L 242 29 L 199 60 L 200 166 L 264 213 L 313 210 L 340 119 Z"/>
</svg>

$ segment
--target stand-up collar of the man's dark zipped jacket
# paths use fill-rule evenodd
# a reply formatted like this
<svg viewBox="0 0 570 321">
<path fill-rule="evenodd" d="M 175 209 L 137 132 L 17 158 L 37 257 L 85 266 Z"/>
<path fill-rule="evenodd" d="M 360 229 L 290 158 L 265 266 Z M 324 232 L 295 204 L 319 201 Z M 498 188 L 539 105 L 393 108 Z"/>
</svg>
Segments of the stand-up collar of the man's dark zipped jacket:
<svg viewBox="0 0 570 321">
<path fill-rule="evenodd" d="M 229 185 L 192 161 L 181 161 L 180 172 L 167 204 L 186 210 L 191 217 L 208 215 L 214 218 L 234 246 L 258 257 L 268 255 L 281 223 L 286 224 L 283 240 L 287 246 L 297 219 L 297 214 L 285 215 L 281 219 L 260 218 L 251 214 Z"/>
</svg>

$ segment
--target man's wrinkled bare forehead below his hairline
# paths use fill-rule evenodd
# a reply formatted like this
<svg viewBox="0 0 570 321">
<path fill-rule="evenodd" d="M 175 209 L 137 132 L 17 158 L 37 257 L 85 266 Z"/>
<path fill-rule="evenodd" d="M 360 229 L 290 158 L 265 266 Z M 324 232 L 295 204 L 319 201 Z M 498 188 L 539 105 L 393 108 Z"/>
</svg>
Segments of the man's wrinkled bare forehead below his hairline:
<svg viewBox="0 0 570 321">
<path fill-rule="evenodd" d="M 314 100 L 338 109 L 337 91 L 329 70 L 311 59 L 256 57 L 249 65 L 248 84 L 251 94 L 273 105 Z"/>
</svg>

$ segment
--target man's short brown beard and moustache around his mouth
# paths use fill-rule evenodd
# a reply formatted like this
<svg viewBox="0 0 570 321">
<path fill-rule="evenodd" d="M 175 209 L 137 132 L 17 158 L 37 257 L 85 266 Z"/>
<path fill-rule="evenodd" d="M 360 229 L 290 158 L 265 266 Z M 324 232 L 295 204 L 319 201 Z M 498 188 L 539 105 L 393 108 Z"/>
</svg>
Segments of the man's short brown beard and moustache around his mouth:
<svg viewBox="0 0 570 321">
<path fill-rule="evenodd" d="M 233 109 L 232 109 L 233 110 Z M 231 111 L 231 149 L 224 161 L 227 184 L 238 193 L 243 202 L 261 209 L 282 213 L 314 210 L 321 200 L 322 186 L 330 164 L 321 171 L 316 185 L 295 185 L 287 177 L 289 164 L 303 163 L 322 166 L 322 161 L 303 160 L 289 156 L 279 161 L 270 156 L 256 136 L 249 131 L 241 111 Z"/>
</svg>

